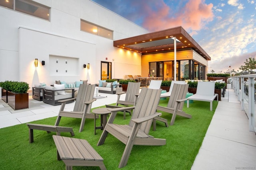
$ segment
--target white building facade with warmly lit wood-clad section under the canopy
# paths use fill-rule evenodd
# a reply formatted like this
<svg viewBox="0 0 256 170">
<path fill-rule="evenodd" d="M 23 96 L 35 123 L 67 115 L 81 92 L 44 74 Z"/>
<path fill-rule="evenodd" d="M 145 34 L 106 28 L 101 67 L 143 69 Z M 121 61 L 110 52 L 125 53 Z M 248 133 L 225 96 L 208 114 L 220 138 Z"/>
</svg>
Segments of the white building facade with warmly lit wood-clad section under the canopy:
<svg viewBox="0 0 256 170">
<path fill-rule="evenodd" d="M 127 74 L 174 79 L 174 49 L 146 53 L 113 45 L 149 31 L 90 0 L 2 0 L 0 13 L 0 81 L 24 81 L 31 88 Z M 210 57 L 178 44 L 176 78 L 206 78 Z"/>
</svg>

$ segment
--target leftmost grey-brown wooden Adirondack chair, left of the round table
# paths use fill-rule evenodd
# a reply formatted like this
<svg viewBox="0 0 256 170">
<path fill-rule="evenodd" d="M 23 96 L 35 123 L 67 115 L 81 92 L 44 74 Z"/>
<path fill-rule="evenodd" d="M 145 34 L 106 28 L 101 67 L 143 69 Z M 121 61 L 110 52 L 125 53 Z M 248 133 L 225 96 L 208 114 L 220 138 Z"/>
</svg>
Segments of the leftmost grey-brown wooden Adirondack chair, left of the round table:
<svg viewBox="0 0 256 170">
<path fill-rule="evenodd" d="M 80 118 L 82 120 L 81 120 L 79 132 L 83 131 L 85 119 L 86 118 L 94 119 L 94 115 L 90 113 L 92 102 L 96 100 L 93 98 L 94 89 L 95 89 L 95 84 L 91 84 L 91 85 L 80 84 L 76 98 L 58 101 L 58 102 L 61 102 L 61 107 L 55 122 L 55 126 L 59 125 L 60 119 L 62 116 Z M 73 111 L 64 111 L 66 102 L 70 100 L 76 100 Z"/>
</svg>

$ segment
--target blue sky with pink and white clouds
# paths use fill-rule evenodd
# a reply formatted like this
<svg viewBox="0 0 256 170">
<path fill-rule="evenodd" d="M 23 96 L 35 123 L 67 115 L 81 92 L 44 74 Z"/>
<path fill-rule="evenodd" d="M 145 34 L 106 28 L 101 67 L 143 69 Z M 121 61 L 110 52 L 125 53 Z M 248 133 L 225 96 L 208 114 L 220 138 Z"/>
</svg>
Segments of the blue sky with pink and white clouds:
<svg viewBox="0 0 256 170">
<path fill-rule="evenodd" d="M 256 0 L 92 0 L 148 29 L 182 26 L 225 72 L 256 57 Z M 239 70 L 240 71 L 240 70 Z"/>
</svg>

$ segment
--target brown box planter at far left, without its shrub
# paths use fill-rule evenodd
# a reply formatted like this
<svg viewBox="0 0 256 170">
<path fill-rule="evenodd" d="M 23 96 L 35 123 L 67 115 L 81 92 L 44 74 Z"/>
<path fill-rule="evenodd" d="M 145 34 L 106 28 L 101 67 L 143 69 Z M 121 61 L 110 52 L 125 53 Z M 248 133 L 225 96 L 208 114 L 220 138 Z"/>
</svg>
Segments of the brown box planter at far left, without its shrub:
<svg viewBox="0 0 256 170">
<path fill-rule="evenodd" d="M 14 110 L 28 108 L 28 93 L 15 94 L 8 92 L 8 104 Z"/>
</svg>

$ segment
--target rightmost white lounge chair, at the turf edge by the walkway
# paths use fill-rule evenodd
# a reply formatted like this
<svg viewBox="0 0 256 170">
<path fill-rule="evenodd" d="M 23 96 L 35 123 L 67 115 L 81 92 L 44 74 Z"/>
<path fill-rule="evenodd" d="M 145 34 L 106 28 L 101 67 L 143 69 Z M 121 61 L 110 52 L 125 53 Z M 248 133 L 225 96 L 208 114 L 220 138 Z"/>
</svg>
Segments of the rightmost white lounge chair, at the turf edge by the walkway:
<svg viewBox="0 0 256 170">
<path fill-rule="evenodd" d="M 218 94 L 214 94 L 215 82 L 198 82 L 196 88 L 196 94 L 188 97 L 189 100 L 198 100 L 204 102 L 210 102 L 210 111 L 212 111 L 212 101 L 217 97 Z M 187 107 L 189 102 L 187 101 Z"/>
</svg>

